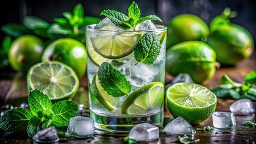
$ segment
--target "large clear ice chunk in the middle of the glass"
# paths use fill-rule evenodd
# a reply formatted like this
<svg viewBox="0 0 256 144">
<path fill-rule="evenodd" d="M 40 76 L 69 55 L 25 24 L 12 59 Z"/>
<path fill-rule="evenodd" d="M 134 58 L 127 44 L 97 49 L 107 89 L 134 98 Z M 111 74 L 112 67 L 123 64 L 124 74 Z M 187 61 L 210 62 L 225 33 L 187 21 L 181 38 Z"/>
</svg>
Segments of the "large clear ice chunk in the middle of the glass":
<svg viewBox="0 0 256 144">
<path fill-rule="evenodd" d="M 142 62 L 136 64 L 135 58 L 123 63 L 117 70 L 126 76 L 126 79 L 132 86 L 135 86 L 135 89 L 152 82 L 154 77 L 160 73 L 156 65 L 146 65 Z"/>
</svg>

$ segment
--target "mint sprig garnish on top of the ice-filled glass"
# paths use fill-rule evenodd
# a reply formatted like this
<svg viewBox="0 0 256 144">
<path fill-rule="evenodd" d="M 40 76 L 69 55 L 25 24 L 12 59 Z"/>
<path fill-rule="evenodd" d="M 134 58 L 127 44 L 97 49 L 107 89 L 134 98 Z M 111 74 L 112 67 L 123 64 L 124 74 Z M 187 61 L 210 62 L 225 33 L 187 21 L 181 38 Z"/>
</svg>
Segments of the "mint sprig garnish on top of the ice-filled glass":
<svg viewBox="0 0 256 144">
<path fill-rule="evenodd" d="M 162 22 L 159 17 L 154 15 L 141 17 L 141 11 L 135 2 L 132 2 L 128 8 L 128 16 L 115 10 L 103 10 L 102 13 L 100 13 L 100 16 L 108 17 L 112 23 L 125 30 L 130 28 L 134 29 L 136 25 L 146 20 L 159 20 Z"/>
</svg>

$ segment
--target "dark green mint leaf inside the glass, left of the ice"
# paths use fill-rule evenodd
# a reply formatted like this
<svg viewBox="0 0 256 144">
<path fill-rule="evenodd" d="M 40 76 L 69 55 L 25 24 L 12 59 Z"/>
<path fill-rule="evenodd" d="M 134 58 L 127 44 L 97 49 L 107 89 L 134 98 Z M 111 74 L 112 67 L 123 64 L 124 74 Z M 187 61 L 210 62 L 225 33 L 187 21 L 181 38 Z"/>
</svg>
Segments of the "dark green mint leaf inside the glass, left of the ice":
<svg viewBox="0 0 256 144">
<path fill-rule="evenodd" d="M 104 90 L 113 97 L 127 95 L 132 89 L 132 85 L 126 77 L 108 62 L 103 62 L 100 65 L 97 74 Z"/>
</svg>

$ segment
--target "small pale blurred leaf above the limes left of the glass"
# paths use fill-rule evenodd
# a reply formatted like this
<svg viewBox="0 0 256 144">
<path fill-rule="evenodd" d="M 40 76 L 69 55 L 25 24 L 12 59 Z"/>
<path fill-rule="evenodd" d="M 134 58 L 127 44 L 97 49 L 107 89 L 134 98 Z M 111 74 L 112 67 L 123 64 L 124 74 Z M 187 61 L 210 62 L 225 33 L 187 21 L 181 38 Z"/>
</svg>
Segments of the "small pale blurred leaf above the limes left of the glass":
<svg viewBox="0 0 256 144">
<path fill-rule="evenodd" d="M 52 23 L 52 25 L 50 26 L 50 28 L 47 31 L 49 34 L 60 34 L 60 35 L 72 35 L 73 32 L 68 29 L 65 28 L 61 25 L 59 25 L 58 23 Z"/>
</svg>

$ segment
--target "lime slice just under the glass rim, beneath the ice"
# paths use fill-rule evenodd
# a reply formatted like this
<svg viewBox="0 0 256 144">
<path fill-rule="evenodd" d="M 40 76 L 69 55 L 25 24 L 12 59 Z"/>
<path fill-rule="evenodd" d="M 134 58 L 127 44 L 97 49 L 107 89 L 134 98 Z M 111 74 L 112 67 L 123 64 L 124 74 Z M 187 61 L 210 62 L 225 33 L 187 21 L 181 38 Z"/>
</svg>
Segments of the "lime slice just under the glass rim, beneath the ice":
<svg viewBox="0 0 256 144">
<path fill-rule="evenodd" d="M 135 34 L 113 34 L 103 37 L 92 37 L 91 43 L 94 50 L 104 58 L 118 59 L 133 52 L 136 39 Z"/>
</svg>

